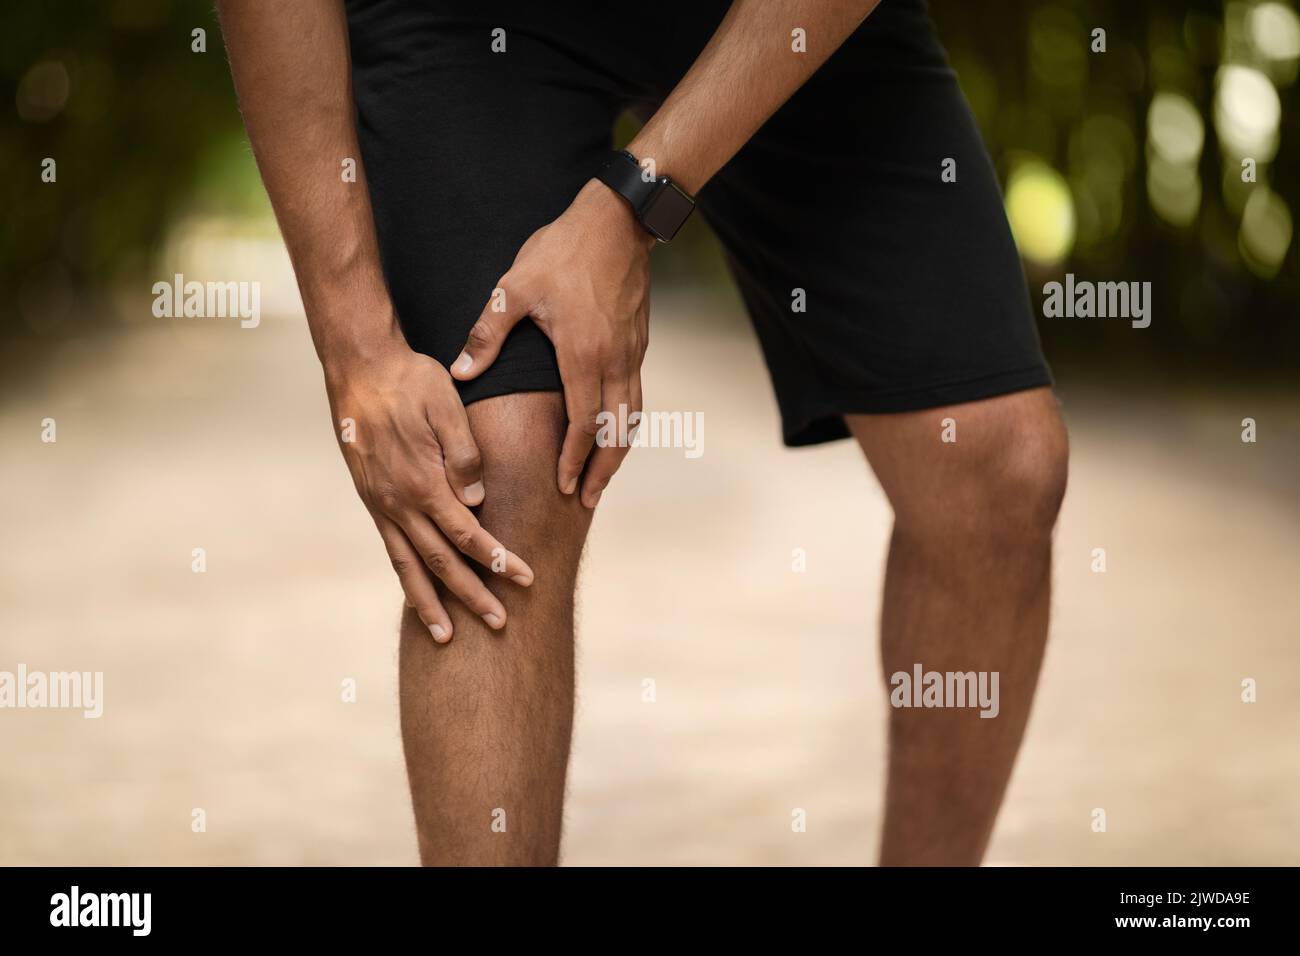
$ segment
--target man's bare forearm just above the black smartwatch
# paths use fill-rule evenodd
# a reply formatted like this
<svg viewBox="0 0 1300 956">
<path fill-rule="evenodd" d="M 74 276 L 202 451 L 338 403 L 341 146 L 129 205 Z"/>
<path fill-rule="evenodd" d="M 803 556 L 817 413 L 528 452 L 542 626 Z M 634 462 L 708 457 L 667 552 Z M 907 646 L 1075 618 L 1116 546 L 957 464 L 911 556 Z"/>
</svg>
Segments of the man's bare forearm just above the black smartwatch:
<svg viewBox="0 0 1300 956">
<path fill-rule="evenodd" d="M 734 0 L 718 31 L 628 144 L 696 193 L 758 131 L 879 0 Z M 794 52 L 793 31 L 806 34 Z"/>
</svg>

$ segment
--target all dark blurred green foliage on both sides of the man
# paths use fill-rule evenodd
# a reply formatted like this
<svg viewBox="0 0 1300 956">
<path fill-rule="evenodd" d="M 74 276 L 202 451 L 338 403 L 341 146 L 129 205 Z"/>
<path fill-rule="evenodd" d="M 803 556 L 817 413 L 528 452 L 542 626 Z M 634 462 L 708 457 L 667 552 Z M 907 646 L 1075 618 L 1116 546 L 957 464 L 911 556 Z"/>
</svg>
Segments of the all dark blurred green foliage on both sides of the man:
<svg viewBox="0 0 1300 956">
<path fill-rule="evenodd" d="M 1239 160 L 1223 156 L 1214 120 L 1225 57 L 1249 62 L 1258 53 L 1242 27 L 1257 5 L 931 0 L 1004 183 L 1034 160 L 1072 206 L 1066 256 L 1027 261 L 1035 302 L 1044 281 L 1069 271 L 1156 289 L 1156 321 L 1138 334 L 1123 323 L 1040 320 L 1054 363 L 1294 364 L 1296 242 L 1271 277 L 1247 260 L 1248 190 L 1238 182 Z M 1104 53 L 1089 49 L 1097 27 L 1106 31 Z M 195 29 L 207 31 L 204 53 L 191 51 Z M 94 315 L 82 306 L 117 277 L 147 269 L 182 215 L 268 215 L 211 0 L 5 4 L 0 74 L 8 96 L 0 109 L 5 334 L 49 330 L 57 323 L 43 316 L 51 312 Z M 1260 178 L 1275 204 L 1300 216 L 1296 85 L 1294 75 L 1271 79 L 1280 98 L 1278 147 Z M 1148 109 L 1157 92 L 1174 94 L 1166 100 L 1175 139 L 1191 135 L 1196 144 L 1197 121 L 1187 114 L 1200 116 L 1193 165 L 1175 170 L 1195 179 L 1196 193 L 1161 179 L 1169 170 L 1154 165 Z M 1184 100 L 1193 109 L 1183 111 Z M 40 179 L 47 156 L 57 159 L 57 186 Z M 723 281 L 716 245 L 698 221 L 663 252 L 656 268 L 672 281 Z"/>
</svg>

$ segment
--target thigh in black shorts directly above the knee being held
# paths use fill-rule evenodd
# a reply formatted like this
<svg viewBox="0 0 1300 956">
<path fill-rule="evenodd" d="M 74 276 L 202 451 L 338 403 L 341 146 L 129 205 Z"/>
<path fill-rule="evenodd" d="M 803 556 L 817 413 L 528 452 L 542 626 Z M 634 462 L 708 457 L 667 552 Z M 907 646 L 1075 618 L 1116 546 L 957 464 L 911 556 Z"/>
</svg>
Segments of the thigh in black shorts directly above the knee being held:
<svg viewBox="0 0 1300 956">
<path fill-rule="evenodd" d="M 350 0 L 352 86 L 385 277 L 411 347 L 448 364 L 497 280 L 610 148 L 615 91 L 556 43 L 464 4 Z M 520 323 L 465 402 L 559 389 Z"/>
</svg>

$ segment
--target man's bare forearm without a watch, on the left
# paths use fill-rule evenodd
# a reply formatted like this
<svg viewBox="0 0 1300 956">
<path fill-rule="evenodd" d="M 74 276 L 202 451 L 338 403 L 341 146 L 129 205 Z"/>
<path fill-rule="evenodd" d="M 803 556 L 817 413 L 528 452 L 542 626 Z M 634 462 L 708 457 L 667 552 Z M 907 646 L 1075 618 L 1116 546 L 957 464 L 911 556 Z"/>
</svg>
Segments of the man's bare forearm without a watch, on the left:
<svg viewBox="0 0 1300 956">
<path fill-rule="evenodd" d="M 380 268 L 339 0 L 217 0 L 239 107 L 321 362 L 400 333 Z M 343 179 L 343 160 L 356 181 Z"/>
</svg>

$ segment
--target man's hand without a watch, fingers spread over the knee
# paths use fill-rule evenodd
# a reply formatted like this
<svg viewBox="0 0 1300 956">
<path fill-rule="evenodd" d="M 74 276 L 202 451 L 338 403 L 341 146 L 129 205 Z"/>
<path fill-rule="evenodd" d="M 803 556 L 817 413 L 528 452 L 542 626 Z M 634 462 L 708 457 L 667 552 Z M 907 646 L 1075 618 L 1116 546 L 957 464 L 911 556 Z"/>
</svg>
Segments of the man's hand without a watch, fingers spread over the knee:
<svg viewBox="0 0 1300 956">
<path fill-rule="evenodd" d="M 447 369 L 394 341 L 364 359 L 326 365 L 325 381 L 339 447 L 407 604 L 436 641 L 451 640 L 432 572 L 489 627 L 504 627 L 504 606 L 465 558 L 523 587 L 533 571 L 469 510 L 484 501 L 482 466 Z"/>
</svg>

